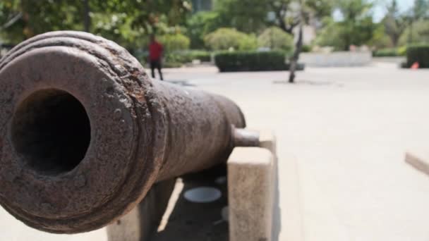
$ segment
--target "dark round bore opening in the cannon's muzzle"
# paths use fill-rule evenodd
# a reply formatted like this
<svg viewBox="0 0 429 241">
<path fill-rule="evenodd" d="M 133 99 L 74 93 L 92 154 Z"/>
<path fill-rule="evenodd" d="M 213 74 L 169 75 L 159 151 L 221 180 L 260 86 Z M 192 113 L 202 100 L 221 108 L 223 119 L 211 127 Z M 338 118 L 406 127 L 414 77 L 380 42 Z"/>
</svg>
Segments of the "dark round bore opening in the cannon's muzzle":
<svg viewBox="0 0 429 241">
<path fill-rule="evenodd" d="M 59 175 L 84 159 L 91 140 L 90 119 L 73 95 L 42 89 L 19 104 L 11 137 L 23 166 L 41 175 Z"/>
</svg>

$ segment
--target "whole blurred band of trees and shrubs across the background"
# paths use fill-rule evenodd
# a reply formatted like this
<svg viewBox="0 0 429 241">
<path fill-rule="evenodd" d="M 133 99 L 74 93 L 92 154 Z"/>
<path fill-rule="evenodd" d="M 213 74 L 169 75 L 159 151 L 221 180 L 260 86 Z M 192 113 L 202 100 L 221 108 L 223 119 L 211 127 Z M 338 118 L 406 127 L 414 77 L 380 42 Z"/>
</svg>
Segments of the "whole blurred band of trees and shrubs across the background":
<svg viewBox="0 0 429 241">
<path fill-rule="evenodd" d="M 80 30 L 111 39 L 144 62 L 149 35 L 155 34 L 166 49 L 167 66 L 180 66 L 210 61 L 213 51 L 290 54 L 302 20 L 314 35 L 304 36 L 303 51 L 346 51 L 354 45 L 366 46 L 375 56 L 399 56 L 410 44 L 429 42 L 429 0 L 407 0 L 413 6 L 405 11 L 397 1 L 1 0 L 0 44 Z M 375 4 L 385 8 L 377 21 Z"/>
</svg>

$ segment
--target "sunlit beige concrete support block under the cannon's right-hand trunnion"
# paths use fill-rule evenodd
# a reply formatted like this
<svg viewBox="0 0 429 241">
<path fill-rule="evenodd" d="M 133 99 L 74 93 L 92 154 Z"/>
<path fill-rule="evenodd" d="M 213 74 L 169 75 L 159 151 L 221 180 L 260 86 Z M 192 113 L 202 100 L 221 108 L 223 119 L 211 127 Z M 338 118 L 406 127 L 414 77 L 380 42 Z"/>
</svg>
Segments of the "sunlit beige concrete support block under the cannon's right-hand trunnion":
<svg viewBox="0 0 429 241">
<path fill-rule="evenodd" d="M 278 239 L 280 218 L 274 135 L 261 132 L 260 143 L 263 148 L 235 148 L 228 161 L 231 241 Z"/>
</svg>

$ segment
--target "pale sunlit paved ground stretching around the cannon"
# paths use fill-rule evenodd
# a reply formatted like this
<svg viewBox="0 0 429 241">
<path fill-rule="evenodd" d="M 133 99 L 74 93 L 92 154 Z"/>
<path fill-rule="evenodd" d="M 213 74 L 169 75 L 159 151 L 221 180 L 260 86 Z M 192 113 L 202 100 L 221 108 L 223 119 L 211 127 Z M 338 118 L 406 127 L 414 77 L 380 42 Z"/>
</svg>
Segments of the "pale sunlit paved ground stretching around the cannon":
<svg viewBox="0 0 429 241">
<path fill-rule="evenodd" d="M 284 173 L 290 171 L 286 163 L 292 155 L 306 241 L 429 240 L 429 178 L 404 163 L 409 147 L 429 148 L 429 70 L 402 70 L 389 63 L 308 68 L 298 73 L 296 85 L 277 83 L 286 76 L 219 74 L 214 68 L 165 74 L 167 80 L 234 99 L 248 126 L 276 132 L 280 202 L 289 203 L 286 186 L 291 183 Z M 288 223 L 285 210 L 282 223 Z M 0 230 L 0 240 L 56 240 L 25 228 L 4 211 Z M 282 227 L 280 240 L 288 231 Z M 100 230 L 67 237 L 103 240 L 105 235 Z"/>
</svg>

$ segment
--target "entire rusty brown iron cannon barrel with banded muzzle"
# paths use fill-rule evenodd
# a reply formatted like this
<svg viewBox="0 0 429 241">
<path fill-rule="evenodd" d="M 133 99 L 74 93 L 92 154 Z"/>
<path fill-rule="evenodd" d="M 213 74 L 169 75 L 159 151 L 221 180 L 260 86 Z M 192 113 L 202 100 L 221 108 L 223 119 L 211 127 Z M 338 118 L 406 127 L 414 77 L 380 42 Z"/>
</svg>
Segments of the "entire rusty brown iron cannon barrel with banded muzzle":
<svg viewBox="0 0 429 241">
<path fill-rule="evenodd" d="M 255 143 L 234 130 L 245 121 L 229 99 L 152 81 L 128 51 L 83 32 L 19 44 L 0 62 L 0 89 L 0 204 L 49 233 L 102 228 L 157 181 Z"/>
</svg>

